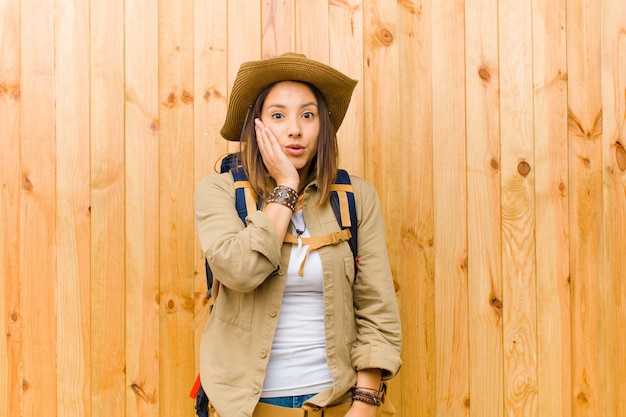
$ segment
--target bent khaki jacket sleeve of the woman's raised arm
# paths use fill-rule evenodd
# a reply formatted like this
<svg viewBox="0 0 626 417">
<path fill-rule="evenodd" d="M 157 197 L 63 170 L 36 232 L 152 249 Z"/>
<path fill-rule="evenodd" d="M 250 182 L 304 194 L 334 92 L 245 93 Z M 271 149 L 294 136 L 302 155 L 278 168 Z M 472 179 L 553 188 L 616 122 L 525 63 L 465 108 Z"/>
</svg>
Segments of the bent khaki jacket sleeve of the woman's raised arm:
<svg viewBox="0 0 626 417">
<path fill-rule="evenodd" d="M 222 285 L 250 292 L 279 268 L 281 245 L 274 224 L 257 211 L 248 213 L 244 227 L 230 173 L 205 177 L 196 188 L 194 206 L 202 250 Z"/>
</svg>

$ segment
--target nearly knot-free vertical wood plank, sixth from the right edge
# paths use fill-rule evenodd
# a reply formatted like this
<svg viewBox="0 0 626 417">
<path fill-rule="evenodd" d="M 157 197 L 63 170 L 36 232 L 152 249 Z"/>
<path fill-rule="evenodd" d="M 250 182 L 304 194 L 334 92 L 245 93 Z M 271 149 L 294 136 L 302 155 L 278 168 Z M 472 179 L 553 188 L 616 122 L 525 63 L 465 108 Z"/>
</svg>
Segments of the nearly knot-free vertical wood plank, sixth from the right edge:
<svg viewBox="0 0 626 417">
<path fill-rule="evenodd" d="M 464 10 L 432 5 L 437 414 L 468 414 Z"/>
</svg>

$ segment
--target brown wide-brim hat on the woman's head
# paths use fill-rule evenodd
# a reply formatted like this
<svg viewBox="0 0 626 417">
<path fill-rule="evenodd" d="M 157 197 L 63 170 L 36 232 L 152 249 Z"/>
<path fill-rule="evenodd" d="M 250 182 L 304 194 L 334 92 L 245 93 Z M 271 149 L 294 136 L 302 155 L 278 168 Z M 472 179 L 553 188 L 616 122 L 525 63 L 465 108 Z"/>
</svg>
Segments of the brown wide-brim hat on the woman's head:
<svg viewBox="0 0 626 417">
<path fill-rule="evenodd" d="M 326 100 L 335 130 L 343 122 L 357 83 L 336 69 L 302 54 L 286 53 L 275 58 L 245 62 L 239 68 L 230 93 L 226 121 L 220 131 L 222 137 L 238 141 L 248 107 L 254 104 L 266 87 L 280 81 L 302 81 L 317 87 Z"/>
</svg>

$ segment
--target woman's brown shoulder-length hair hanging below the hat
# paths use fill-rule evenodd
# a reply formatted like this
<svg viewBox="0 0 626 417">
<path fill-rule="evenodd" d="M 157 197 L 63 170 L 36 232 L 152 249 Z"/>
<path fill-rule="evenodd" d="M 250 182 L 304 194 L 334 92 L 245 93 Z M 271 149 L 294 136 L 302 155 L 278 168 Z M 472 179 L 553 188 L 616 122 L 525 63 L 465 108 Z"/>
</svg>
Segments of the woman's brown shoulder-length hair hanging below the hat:
<svg viewBox="0 0 626 417">
<path fill-rule="evenodd" d="M 306 85 L 315 95 L 320 121 L 317 155 L 313 158 L 302 188 L 304 188 L 304 186 L 309 184 L 311 181 L 317 179 L 317 187 L 319 190 L 319 199 L 317 203 L 321 206 L 330 198 L 330 188 L 335 181 L 335 177 L 337 176 L 337 136 L 335 126 L 330 119 L 330 113 L 328 111 L 328 106 L 326 105 L 326 100 L 324 99 L 322 93 L 320 93 L 319 90 L 311 84 L 301 84 Z M 275 84 L 268 86 L 258 95 L 256 102 L 248 111 L 247 120 L 244 123 L 244 128 L 241 134 L 241 154 L 243 166 L 248 173 L 250 185 L 264 199 L 269 197 L 272 190 L 276 186 L 276 182 L 274 181 L 274 178 L 270 177 L 269 172 L 263 163 L 263 158 L 261 157 L 261 152 L 259 151 L 256 141 L 254 120 L 261 116 L 261 110 L 263 109 L 265 99 L 274 85 Z M 302 190 L 298 191 L 301 192 Z"/>
</svg>

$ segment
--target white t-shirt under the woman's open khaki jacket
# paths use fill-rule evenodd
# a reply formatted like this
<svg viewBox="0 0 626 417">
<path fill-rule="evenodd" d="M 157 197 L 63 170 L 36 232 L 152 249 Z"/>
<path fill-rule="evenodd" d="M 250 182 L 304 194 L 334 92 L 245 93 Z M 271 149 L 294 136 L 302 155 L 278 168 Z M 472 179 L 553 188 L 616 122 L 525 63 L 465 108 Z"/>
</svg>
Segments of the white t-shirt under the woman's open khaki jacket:
<svg viewBox="0 0 626 417">
<path fill-rule="evenodd" d="M 292 216 L 294 234 L 310 237 L 302 211 Z M 270 353 L 261 397 L 316 394 L 332 386 L 326 363 L 322 261 L 309 253 L 304 276 L 298 269 L 308 249 L 294 244 L 287 270 L 283 303 Z"/>
</svg>

